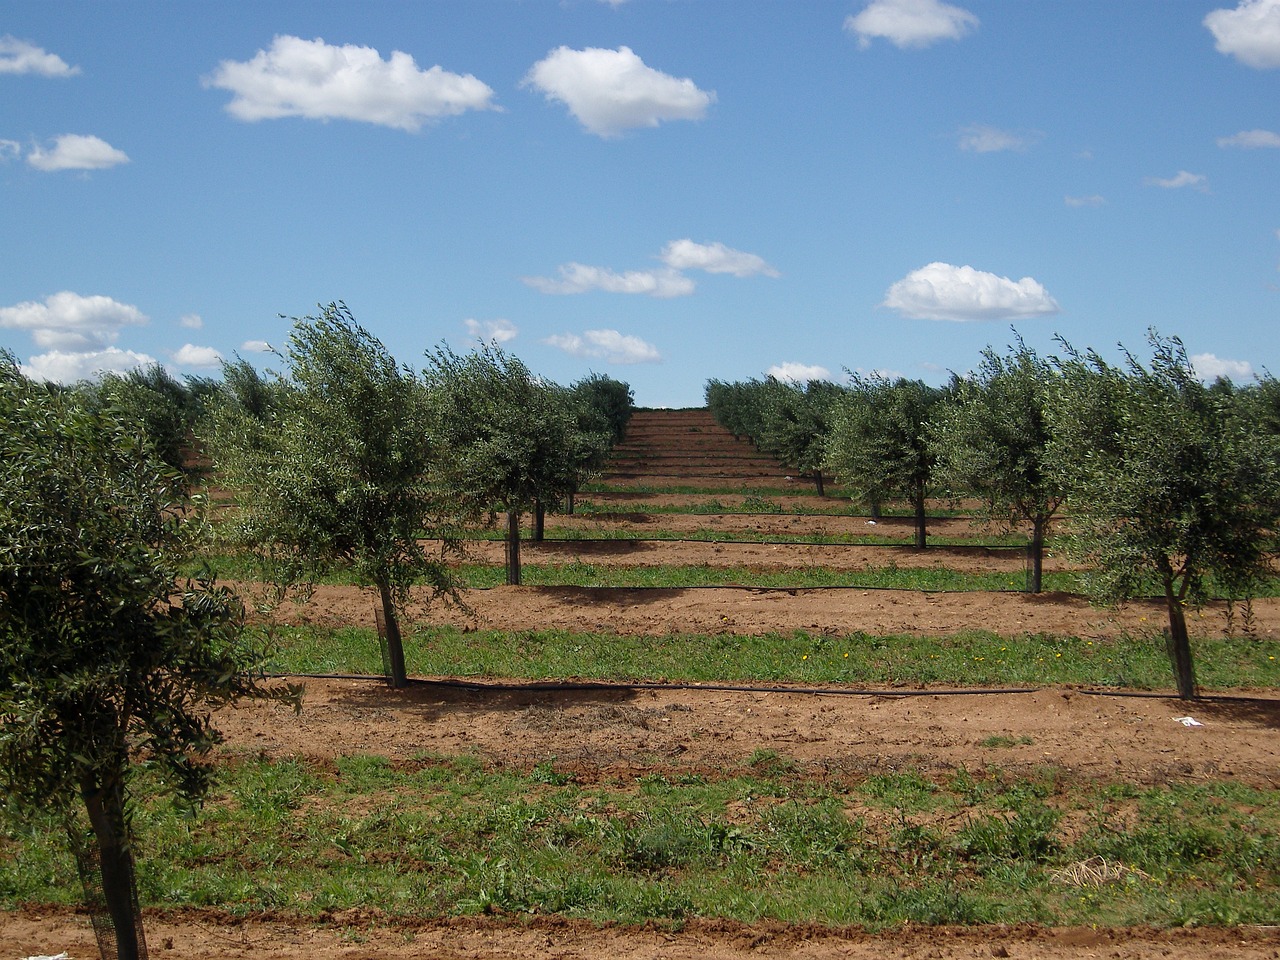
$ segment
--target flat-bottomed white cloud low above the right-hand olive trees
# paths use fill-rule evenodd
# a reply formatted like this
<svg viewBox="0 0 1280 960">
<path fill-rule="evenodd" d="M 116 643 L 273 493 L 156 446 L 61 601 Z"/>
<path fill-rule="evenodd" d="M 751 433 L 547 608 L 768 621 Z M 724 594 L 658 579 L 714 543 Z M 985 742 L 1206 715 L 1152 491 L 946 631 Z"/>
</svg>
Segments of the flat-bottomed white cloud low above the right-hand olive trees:
<svg viewBox="0 0 1280 960">
<path fill-rule="evenodd" d="M 888 288 L 881 306 L 915 320 L 1025 320 L 1060 311 L 1044 287 L 1007 276 L 934 262 Z"/>
</svg>

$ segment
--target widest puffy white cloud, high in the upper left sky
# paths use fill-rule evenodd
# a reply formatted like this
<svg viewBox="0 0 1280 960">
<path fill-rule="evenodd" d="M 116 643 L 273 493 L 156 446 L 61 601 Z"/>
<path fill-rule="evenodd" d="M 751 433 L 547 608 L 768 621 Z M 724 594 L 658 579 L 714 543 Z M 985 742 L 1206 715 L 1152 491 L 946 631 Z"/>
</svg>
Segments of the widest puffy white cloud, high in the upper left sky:
<svg viewBox="0 0 1280 960">
<path fill-rule="evenodd" d="M 493 90 L 471 74 L 424 70 L 399 50 L 384 60 L 372 47 L 320 38 L 278 36 L 251 60 L 223 60 L 204 83 L 234 95 L 227 111 L 239 120 L 305 116 L 413 132 L 442 116 L 494 109 Z"/>
</svg>

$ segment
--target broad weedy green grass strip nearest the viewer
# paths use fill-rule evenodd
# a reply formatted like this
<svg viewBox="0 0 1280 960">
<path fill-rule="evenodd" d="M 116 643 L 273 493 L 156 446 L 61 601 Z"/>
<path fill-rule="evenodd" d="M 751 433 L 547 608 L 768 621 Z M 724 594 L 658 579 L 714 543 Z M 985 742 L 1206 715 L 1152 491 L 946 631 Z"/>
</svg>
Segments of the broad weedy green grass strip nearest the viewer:
<svg viewBox="0 0 1280 960">
<path fill-rule="evenodd" d="M 998 768 L 865 777 L 773 751 L 713 776 L 599 783 L 553 756 L 531 768 L 244 758 L 220 773 L 193 815 L 134 791 L 147 797 L 134 818 L 145 906 L 870 929 L 1280 915 L 1280 794 L 1234 783 L 1135 788 Z M 1093 858 L 1114 876 L 1073 883 Z M 0 906 L 79 896 L 56 822 L 0 809 Z"/>
</svg>

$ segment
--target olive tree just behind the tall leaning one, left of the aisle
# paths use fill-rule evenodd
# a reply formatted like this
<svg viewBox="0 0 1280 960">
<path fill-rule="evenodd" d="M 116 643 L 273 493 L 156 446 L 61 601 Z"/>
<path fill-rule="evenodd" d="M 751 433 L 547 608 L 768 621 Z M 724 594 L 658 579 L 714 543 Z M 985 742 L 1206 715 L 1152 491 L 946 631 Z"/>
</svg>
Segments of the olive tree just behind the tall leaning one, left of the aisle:
<svg viewBox="0 0 1280 960">
<path fill-rule="evenodd" d="M 495 344 L 428 353 L 430 435 L 449 452 L 436 483 L 471 517 L 507 515 L 507 582 L 521 582 L 520 518 L 577 489 L 608 433 L 584 430 L 570 390 L 534 376 Z"/>
</svg>

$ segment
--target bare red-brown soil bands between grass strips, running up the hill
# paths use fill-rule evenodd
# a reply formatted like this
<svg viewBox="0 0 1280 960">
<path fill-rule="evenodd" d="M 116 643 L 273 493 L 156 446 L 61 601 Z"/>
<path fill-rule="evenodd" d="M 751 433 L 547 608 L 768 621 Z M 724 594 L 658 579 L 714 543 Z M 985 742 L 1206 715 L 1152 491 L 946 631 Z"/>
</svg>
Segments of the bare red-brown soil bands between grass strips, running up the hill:
<svg viewBox="0 0 1280 960">
<path fill-rule="evenodd" d="M 741 457 L 736 467 L 735 454 Z M 682 486 L 788 484 L 787 471 L 754 457 L 705 412 L 640 413 L 630 443 L 614 461 L 616 486 L 678 483 Z M 663 477 L 669 477 L 664 480 Z M 797 493 L 771 497 L 783 508 L 820 504 L 812 484 L 792 477 Z M 749 494 L 748 494 L 749 495 Z M 865 518 L 795 515 L 717 515 L 672 517 L 641 513 L 640 502 L 705 502 L 726 509 L 735 498 L 713 494 L 593 494 L 596 506 L 616 504 L 612 516 L 549 518 L 557 525 L 649 526 L 663 530 L 759 530 L 762 532 L 838 532 L 867 530 Z M 740 503 L 741 498 L 736 502 Z M 631 509 L 628 511 L 628 506 Z M 905 532 L 888 520 L 877 531 Z M 937 521 L 931 532 L 966 536 L 965 521 Z M 481 553 L 500 550 L 480 547 Z M 494 554 L 497 556 L 497 554 Z M 797 547 L 726 543 L 626 543 L 526 545 L 526 561 L 581 559 L 590 563 L 707 563 L 712 566 L 856 568 L 941 564 L 964 570 L 1023 571 L 1021 558 L 980 550 Z M 1051 563 L 1060 563 L 1053 559 Z M 984 628 L 1010 636 L 1047 632 L 1082 639 L 1149 634 L 1162 613 L 1157 605 L 1124 611 L 1091 607 L 1068 595 L 919 594 L 897 590 L 663 589 L 588 590 L 500 588 L 466 596 L 474 617 L 433 605 L 424 616 L 462 626 L 532 630 L 566 627 L 622 634 L 736 632 L 808 630 L 847 634 L 951 634 Z M 287 607 L 284 620 L 367 623 L 372 598 L 360 590 L 321 588 L 305 607 Z M 1256 604 L 1258 630 L 1275 637 L 1280 604 Z M 1193 634 L 1220 634 L 1221 611 L 1193 622 Z M 250 705 L 219 718 L 233 753 L 268 756 L 330 758 L 376 751 L 408 756 L 422 751 L 468 753 L 494 764 L 532 767 L 557 758 L 579 780 L 593 781 L 646 772 L 713 771 L 742 764 L 768 748 L 800 764 L 824 769 L 946 771 L 998 764 L 1010 771 L 1051 765 L 1073 777 L 1161 783 L 1171 780 L 1231 780 L 1260 787 L 1280 786 L 1280 700 L 1270 692 L 1240 699 L 1185 704 L 1161 696 L 1092 695 L 1046 689 L 1025 694 L 951 695 L 941 691 L 883 690 L 818 695 L 803 691 L 748 691 L 708 686 L 616 689 L 582 685 L 541 687 L 529 681 L 451 684 L 424 678 L 393 691 L 376 681 L 310 680 L 300 716 L 274 705 Z M 1203 726 L 1178 718 L 1193 716 Z M 984 746 L 992 736 L 1014 746 Z M 1029 741 L 1029 742 L 1025 742 Z M 989 741 L 988 741 L 989 742 Z M 695 920 L 680 932 L 605 927 L 556 918 L 447 919 L 403 922 L 376 905 L 324 918 L 289 916 L 233 922 L 216 913 L 168 911 L 148 915 L 152 956 L 177 959 L 255 957 L 332 960 L 334 957 L 658 957 L 739 960 L 805 957 L 1011 956 L 1059 957 L 1280 957 L 1276 928 L 1196 929 L 1043 929 L 905 928 L 870 936 L 859 931 L 785 924 Z M 0 960 L 68 950 L 92 956 L 92 932 L 70 911 L 0 914 Z"/>
</svg>

